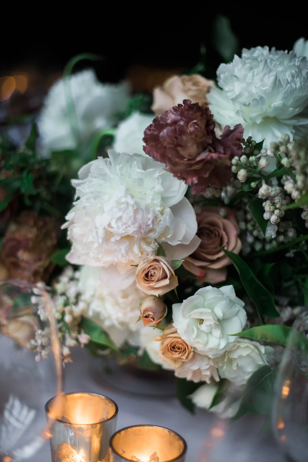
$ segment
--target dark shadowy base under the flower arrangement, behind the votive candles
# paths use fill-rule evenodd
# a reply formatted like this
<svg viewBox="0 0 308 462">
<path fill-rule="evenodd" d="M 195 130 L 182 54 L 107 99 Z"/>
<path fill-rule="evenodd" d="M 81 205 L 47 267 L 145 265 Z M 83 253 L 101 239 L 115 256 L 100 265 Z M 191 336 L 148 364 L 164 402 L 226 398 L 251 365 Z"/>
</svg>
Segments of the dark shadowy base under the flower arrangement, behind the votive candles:
<svg viewBox="0 0 308 462">
<path fill-rule="evenodd" d="M 148 371 L 132 364 L 120 365 L 115 360 L 106 358 L 100 373 L 104 383 L 132 395 L 176 395 L 176 382 L 172 371 Z"/>
</svg>

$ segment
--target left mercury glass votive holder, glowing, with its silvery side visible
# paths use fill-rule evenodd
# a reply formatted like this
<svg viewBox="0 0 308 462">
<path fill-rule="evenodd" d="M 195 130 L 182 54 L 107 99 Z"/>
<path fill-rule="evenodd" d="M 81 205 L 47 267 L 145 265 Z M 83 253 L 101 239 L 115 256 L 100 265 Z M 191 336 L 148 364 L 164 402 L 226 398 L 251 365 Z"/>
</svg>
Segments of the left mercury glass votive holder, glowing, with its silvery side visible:
<svg viewBox="0 0 308 462">
<path fill-rule="evenodd" d="M 52 462 L 109 462 L 109 441 L 115 432 L 118 406 L 95 393 L 64 395 L 62 417 L 51 430 Z M 52 412 L 54 398 L 45 405 Z"/>
</svg>

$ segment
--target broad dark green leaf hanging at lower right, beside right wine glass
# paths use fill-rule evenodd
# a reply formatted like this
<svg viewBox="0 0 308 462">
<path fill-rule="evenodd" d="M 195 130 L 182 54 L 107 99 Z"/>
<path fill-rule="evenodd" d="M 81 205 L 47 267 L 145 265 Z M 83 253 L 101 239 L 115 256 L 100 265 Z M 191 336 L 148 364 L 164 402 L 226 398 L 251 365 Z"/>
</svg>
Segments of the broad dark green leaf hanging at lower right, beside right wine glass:
<svg viewBox="0 0 308 462">
<path fill-rule="evenodd" d="M 242 394 L 239 410 L 231 419 L 235 422 L 246 414 L 268 414 L 272 407 L 274 384 L 278 368 L 260 367 L 249 377 Z"/>
</svg>

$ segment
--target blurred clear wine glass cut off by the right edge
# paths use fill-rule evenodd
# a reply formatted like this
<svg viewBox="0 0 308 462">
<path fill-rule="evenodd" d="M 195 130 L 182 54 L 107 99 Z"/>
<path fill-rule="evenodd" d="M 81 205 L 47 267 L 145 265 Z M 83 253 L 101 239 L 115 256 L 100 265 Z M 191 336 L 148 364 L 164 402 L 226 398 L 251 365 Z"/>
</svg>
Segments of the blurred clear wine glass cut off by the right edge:
<svg viewBox="0 0 308 462">
<path fill-rule="evenodd" d="M 308 310 L 292 327 L 279 366 L 272 405 L 272 428 L 288 460 L 307 461 L 308 455 Z"/>
</svg>

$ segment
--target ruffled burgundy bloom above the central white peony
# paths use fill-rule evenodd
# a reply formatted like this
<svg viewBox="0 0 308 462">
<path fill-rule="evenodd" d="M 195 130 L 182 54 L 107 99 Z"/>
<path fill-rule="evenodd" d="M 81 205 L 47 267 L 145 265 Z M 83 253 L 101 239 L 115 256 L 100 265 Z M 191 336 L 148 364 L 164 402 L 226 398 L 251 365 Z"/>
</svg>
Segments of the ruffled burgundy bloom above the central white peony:
<svg viewBox="0 0 308 462">
<path fill-rule="evenodd" d="M 145 129 L 143 149 L 175 178 L 193 185 L 193 193 L 202 193 L 230 181 L 231 159 L 241 155 L 243 133 L 241 124 L 232 130 L 227 125 L 218 139 L 210 109 L 184 99 Z"/>
</svg>

